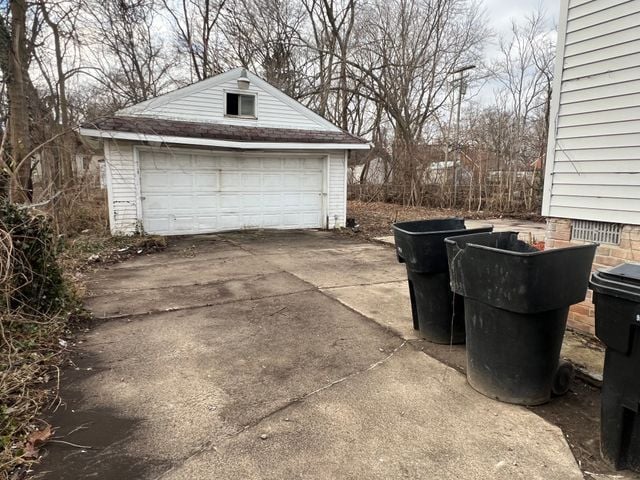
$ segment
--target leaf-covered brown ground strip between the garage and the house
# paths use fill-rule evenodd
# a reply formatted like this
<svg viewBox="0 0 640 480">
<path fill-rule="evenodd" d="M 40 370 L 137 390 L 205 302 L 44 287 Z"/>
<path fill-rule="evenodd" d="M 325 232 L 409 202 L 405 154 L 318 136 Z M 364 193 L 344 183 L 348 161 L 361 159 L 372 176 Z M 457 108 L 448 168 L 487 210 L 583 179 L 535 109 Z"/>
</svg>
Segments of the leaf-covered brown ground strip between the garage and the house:
<svg viewBox="0 0 640 480">
<path fill-rule="evenodd" d="M 496 214 L 488 211 L 468 211 L 449 208 L 405 207 L 395 203 L 361 202 L 347 203 L 347 217 L 354 218 L 359 232 L 365 237 L 381 237 L 393 233 L 391 225 L 406 220 L 443 217 L 464 217 L 468 219 L 515 218 L 518 220 L 544 221 L 537 213 Z"/>
</svg>

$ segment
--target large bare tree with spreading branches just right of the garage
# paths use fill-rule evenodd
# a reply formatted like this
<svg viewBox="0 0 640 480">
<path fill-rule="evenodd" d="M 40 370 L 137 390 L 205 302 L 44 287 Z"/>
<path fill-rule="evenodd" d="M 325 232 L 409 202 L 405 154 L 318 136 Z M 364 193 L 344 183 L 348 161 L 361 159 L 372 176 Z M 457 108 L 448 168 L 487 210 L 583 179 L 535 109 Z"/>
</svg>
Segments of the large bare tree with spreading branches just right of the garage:
<svg viewBox="0 0 640 480">
<path fill-rule="evenodd" d="M 464 0 L 394 0 L 376 3 L 358 35 L 360 92 L 384 105 L 394 128 L 395 180 L 403 201 L 420 203 L 417 147 L 447 97 L 458 67 L 481 53 L 486 30 L 479 8 Z"/>
</svg>

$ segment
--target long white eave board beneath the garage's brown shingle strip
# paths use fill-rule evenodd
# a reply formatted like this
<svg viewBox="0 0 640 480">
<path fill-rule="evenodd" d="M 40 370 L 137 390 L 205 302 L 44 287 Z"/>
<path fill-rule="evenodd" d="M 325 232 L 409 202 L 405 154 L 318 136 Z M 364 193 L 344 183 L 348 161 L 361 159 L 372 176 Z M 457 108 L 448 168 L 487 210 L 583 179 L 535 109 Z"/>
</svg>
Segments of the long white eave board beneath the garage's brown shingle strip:
<svg viewBox="0 0 640 480">
<path fill-rule="evenodd" d="M 307 143 L 307 142 L 240 142 L 213 138 L 193 138 L 172 135 L 150 135 L 146 133 L 118 132 L 80 128 L 85 137 L 131 140 L 139 142 L 174 143 L 178 145 L 196 145 L 203 147 L 237 148 L 245 150 L 369 150 L 369 143 Z"/>
</svg>

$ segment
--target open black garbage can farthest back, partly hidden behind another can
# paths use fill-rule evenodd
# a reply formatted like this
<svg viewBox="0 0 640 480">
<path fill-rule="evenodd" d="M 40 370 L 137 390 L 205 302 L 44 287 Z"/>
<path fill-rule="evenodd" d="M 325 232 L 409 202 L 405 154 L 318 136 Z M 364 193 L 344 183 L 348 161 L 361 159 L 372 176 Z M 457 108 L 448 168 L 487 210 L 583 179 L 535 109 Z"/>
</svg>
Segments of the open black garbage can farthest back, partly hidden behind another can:
<svg viewBox="0 0 640 480">
<path fill-rule="evenodd" d="M 407 266 L 413 328 L 434 343 L 464 343 L 462 298 L 449 286 L 446 237 L 490 232 L 491 225 L 466 229 L 462 218 L 400 222 L 393 225 L 396 254 Z"/>
</svg>

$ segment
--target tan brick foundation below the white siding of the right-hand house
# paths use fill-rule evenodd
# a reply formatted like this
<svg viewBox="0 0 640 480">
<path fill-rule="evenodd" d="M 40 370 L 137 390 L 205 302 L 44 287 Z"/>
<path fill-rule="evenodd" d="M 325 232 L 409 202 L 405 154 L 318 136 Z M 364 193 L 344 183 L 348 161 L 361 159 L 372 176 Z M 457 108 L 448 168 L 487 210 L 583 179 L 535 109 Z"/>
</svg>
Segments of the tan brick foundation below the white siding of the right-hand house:
<svg viewBox="0 0 640 480">
<path fill-rule="evenodd" d="M 571 240 L 571 220 L 567 218 L 548 218 L 545 234 L 545 249 L 582 245 L 587 242 Z M 596 250 L 592 271 L 615 267 L 624 262 L 640 262 L 640 226 L 624 225 L 620 232 L 620 244 L 601 244 Z M 571 307 L 568 325 L 571 328 L 595 333 L 594 309 L 591 303 L 591 290 L 584 302 Z"/>
</svg>

